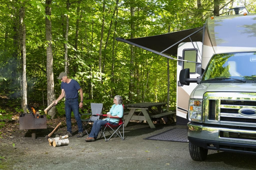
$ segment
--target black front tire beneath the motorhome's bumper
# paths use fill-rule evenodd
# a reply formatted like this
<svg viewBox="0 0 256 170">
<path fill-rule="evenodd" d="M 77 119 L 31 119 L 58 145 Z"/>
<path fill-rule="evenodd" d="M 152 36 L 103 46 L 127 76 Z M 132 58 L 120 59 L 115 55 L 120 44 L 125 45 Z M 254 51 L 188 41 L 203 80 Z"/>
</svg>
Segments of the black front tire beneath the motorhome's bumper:
<svg viewBox="0 0 256 170">
<path fill-rule="evenodd" d="M 208 149 L 189 144 L 189 154 L 194 161 L 204 161 L 207 158 Z"/>
</svg>

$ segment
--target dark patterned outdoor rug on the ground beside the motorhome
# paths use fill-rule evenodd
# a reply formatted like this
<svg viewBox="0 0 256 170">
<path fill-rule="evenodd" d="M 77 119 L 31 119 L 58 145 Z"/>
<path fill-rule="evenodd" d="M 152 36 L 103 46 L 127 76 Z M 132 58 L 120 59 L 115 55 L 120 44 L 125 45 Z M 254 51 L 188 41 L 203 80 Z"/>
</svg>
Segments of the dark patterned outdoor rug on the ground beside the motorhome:
<svg viewBox="0 0 256 170">
<path fill-rule="evenodd" d="M 186 128 L 173 128 L 165 132 L 153 135 L 144 139 L 149 140 L 164 140 L 174 142 L 188 142 L 187 129 Z"/>
</svg>

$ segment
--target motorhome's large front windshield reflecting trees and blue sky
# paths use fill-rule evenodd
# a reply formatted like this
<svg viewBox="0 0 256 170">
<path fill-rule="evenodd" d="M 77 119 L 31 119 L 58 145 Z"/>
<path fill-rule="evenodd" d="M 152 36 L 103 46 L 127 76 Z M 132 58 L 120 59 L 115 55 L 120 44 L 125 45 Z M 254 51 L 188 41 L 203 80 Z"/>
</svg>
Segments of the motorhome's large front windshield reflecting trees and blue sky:
<svg viewBox="0 0 256 170">
<path fill-rule="evenodd" d="M 216 54 L 212 56 L 202 81 L 256 80 L 256 52 Z"/>
</svg>

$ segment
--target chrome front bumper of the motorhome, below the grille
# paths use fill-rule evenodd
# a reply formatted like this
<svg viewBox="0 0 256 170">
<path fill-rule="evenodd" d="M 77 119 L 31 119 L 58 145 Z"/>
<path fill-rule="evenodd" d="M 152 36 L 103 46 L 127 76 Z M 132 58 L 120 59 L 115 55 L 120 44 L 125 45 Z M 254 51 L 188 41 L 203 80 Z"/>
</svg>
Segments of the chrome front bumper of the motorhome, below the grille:
<svg viewBox="0 0 256 170">
<path fill-rule="evenodd" d="M 189 122 L 188 140 L 191 144 L 205 149 L 256 155 L 256 131 L 211 127 Z M 245 136 L 241 139 L 241 136 Z M 245 134 L 245 135 L 244 135 Z"/>
</svg>

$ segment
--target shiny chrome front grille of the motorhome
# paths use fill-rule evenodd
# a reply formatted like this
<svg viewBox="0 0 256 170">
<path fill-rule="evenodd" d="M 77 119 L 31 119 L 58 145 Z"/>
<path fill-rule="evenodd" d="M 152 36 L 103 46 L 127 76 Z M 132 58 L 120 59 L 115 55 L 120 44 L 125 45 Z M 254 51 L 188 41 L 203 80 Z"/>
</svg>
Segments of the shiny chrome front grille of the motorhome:
<svg viewBox="0 0 256 170">
<path fill-rule="evenodd" d="M 203 103 L 205 123 L 256 127 L 256 115 L 239 113 L 241 108 L 256 109 L 256 93 L 206 92 Z"/>
</svg>

